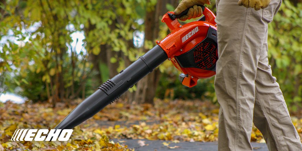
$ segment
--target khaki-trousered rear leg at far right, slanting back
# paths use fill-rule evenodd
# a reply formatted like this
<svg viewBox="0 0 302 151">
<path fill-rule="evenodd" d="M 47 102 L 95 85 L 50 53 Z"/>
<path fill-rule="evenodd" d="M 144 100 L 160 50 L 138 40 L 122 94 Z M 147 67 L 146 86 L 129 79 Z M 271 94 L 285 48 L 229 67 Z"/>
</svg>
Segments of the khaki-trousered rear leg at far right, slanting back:
<svg viewBox="0 0 302 151">
<path fill-rule="evenodd" d="M 271 75 L 267 50 L 267 43 L 264 43 L 255 80 L 253 122 L 261 131 L 270 151 L 302 150 L 300 137 L 291 122 L 279 84 Z"/>
</svg>

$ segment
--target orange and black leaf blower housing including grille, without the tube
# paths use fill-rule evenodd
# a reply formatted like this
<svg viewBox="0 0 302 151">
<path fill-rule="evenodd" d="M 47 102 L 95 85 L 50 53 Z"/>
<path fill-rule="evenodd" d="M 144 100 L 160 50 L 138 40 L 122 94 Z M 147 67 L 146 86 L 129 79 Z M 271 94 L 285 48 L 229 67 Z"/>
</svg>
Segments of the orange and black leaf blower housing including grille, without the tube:
<svg viewBox="0 0 302 151">
<path fill-rule="evenodd" d="M 216 74 L 217 24 L 215 14 L 202 6 L 204 16 L 198 21 L 185 25 L 176 18 L 186 14 L 175 15 L 168 12 L 162 17 L 171 31 L 167 37 L 156 43 L 165 51 L 169 60 L 182 74 L 179 80 L 183 85 L 193 87 L 198 79 L 205 79 Z"/>
</svg>

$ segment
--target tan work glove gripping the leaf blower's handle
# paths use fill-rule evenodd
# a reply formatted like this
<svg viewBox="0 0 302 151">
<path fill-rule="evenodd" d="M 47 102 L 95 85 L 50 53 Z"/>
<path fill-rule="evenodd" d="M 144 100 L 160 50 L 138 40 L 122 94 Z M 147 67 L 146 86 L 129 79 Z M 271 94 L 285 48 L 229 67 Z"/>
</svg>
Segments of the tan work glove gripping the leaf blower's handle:
<svg viewBox="0 0 302 151">
<path fill-rule="evenodd" d="M 188 11 L 188 14 L 183 15 L 181 18 L 179 18 L 179 20 L 185 21 L 187 19 L 200 17 L 202 15 L 202 9 L 200 6 L 197 5 L 204 5 L 204 4 L 210 4 L 210 1 L 209 0 L 182 0 L 182 2 L 180 2 L 177 8 L 175 9 L 174 13 L 175 15 L 178 15 L 191 7 Z"/>
</svg>

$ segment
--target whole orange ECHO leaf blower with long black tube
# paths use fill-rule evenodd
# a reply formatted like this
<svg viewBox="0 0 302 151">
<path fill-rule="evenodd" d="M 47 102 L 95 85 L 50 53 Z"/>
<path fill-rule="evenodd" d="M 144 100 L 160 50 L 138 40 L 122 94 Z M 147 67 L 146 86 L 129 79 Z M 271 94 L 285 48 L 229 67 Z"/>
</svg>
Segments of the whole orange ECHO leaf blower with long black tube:
<svg viewBox="0 0 302 151">
<path fill-rule="evenodd" d="M 171 31 L 156 46 L 139 57 L 126 69 L 112 79 L 104 82 L 98 89 L 82 101 L 65 117 L 55 129 L 72 129 L 92 117 L 108 104 L 113 103 L 120 96 L 136 84 L 140 79 L 153 71 L 166 59 L 182 72 L 180 82 L 188 87 L 197 84 L 198 79 L 205 79 L 216 74 L 217 54 L 217 24 L 215 15 L 208 8 L 201 6 L 204 16 L 198 21 L 185 25 L 179 24 L 179 15 L 167 12 L 162 17 Z"/>
</svg>

